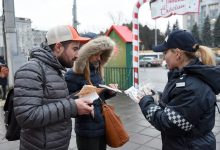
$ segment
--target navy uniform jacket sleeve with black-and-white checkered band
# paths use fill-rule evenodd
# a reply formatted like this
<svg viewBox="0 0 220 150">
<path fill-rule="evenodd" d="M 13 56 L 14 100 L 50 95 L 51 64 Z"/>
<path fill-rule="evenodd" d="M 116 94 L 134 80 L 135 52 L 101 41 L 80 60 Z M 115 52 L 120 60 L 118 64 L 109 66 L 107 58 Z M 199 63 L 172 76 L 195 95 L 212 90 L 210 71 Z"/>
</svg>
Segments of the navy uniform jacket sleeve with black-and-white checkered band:
<svg viewBox="0 0 220 150">
<path fill-rule="evenodd" d="M 170 135 L 186 134 L 194 129 L 202 113 L 196 100 L 199 95 L 189 87 L 177 89 L 174 93 L 163 109 L 151 96 L 142 98 L 139 105 L 145 118 L 159 131 Z"/>
</svg>

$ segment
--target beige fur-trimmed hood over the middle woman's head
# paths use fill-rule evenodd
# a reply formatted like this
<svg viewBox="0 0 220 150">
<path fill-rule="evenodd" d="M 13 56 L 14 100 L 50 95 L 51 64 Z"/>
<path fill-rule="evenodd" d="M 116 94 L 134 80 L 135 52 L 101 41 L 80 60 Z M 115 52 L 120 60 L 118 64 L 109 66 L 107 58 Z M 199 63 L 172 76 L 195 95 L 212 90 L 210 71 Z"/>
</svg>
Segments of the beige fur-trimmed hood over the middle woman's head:
<svg viewBox="0 0 220 150">
<path fill-rule="evenodd" d="M 80 48 L 79 57 L 74 62 L 73 70 L 76 73 L 82 74 L 88 62 L 88 58 L 99 52 L 102 52 L 101 65 L 106 64 L 113 54 L 114 46 L 115 42 L 107 36 L 100 36 L 90 40 Z"/>
</svg>

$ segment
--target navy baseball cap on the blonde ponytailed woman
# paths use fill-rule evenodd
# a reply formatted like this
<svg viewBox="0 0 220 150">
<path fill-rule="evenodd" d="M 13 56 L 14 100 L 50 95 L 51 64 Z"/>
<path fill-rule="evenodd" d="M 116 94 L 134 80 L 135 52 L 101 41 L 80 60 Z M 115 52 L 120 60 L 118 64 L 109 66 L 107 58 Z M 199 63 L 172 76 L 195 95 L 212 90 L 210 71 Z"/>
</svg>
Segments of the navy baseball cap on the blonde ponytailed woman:
<svg viewBox="0 0 220 150">
<path fill-rule="evenodd" d="M 165 38 L 161 45 L 153 47 L 153 51 L 164 52 L 168 49 L 179 48 L 187 52 L 195 52 L 196 48 L 193 48 L 195 44 L 196 40 L 190 32 L 175 30 Z"/>
</svg>

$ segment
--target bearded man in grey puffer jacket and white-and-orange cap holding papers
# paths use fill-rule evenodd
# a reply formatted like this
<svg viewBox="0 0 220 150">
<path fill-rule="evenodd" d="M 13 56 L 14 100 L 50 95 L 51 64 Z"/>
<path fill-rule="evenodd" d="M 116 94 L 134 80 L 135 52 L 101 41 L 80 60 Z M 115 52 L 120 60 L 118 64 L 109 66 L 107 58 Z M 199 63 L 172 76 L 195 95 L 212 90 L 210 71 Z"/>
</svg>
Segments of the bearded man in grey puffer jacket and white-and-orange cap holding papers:
<svg viewBox="0 0 220 150">
<path fill-rule="evenodd" d="M 15 74 L 14 112 L 21 127 L 20 150 L 67 150 L 72 117 L 90 114 L 87 99 L 69 96 L 63 77 L 72 67 L 80 43 L 72 26 L 60 25 L 46 34 L 46 42 L 30 53 L 30 60 Z"/>
</svg>

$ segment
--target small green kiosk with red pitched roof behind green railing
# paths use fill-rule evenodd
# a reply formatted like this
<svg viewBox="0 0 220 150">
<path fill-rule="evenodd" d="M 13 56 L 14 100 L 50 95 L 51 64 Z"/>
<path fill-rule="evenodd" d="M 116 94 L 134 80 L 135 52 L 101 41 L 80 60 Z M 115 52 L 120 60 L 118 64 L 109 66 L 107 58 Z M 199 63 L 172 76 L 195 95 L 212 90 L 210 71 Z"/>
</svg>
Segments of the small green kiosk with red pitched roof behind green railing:
<svg viewBox="0 0 220 150">
<path fill-rule="evenodd" d="M 132 32 L 126 26 L 112 25 L 106 33 L 116 43 L 114 56 L 105 66 L 105 82 L 118 83 L 120 89 L 133 85 Z"/>
</svg>

